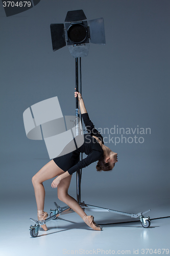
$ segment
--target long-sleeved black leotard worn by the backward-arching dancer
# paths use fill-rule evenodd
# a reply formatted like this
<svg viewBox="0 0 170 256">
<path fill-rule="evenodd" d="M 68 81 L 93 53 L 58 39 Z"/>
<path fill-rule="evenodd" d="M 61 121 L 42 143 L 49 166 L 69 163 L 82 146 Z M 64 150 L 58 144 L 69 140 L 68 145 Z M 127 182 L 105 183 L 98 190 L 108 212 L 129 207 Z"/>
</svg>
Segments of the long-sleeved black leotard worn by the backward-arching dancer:
<svg viewBox="0 0 170 256">
<path fill-rule="evenodd" d="M 104 154 L 99 142 L 92 137 L 92 135 L 98 137 L 104 144 L 102 135 L 94 128 L 94 124 L 89 119 L 88 113 L 82 114 L 82 118 L 88 131 L 87 134 L 84 134 L 83 145 L 71 153 L 53 159 L 64 172 L 68 171 L 70 175 L 77 170 L 98 161 Z M 79 161 L 80 153 L 85 153 L 87 157 Z"/>
</svg>

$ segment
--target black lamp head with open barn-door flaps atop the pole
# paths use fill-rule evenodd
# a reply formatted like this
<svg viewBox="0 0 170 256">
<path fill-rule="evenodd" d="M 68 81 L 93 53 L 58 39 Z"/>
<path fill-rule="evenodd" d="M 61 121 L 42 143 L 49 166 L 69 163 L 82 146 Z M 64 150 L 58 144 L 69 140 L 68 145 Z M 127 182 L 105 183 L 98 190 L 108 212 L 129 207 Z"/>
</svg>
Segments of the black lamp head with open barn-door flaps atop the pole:
<svg viewBox="0 0 170 256">
<path fill-rule="evenodd" d="M 69 46 L 74 58 L 88 55 L 89 42 L 105 45 L 104 19 L 87 19 L 83 10 L 68 11 L 65 24 L 51 24 L 53 51 Z"/>
</svg>

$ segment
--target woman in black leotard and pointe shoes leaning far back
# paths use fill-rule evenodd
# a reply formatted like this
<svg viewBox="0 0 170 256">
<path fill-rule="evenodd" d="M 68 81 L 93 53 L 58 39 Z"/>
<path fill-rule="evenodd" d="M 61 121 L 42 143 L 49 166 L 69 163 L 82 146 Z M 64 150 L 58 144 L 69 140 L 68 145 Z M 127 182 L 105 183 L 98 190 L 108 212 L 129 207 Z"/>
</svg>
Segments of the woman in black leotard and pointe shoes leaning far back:
<svg viewBox="0 0 170 256">
<path fill-rule="evenodd" d="M 117 162 L 117 153 L 112 152 L 109 147 L 104 145 L 102 135 L 94 128 L 93 123 L 89 119 L 81 94 L 75 92 L 75 97 L 79 99 L 81 115 L 88 133 L 84 135 L 84 143 L 81 147 L 69 154 L 54 158 L 44 165 L 32 178 L 38 220 L 45 220 L 48 216 L 47 212 L 43 211 L 45 190 L 42 182 L 57 176 L 51 186 L 58 188 L 58 199 L 77 212 L 88 226 L 94 230 L 102 230 L 102 227 L 94 222 L 93 216 L 87 216 L 79 203 L 68 195 L 68 187 L 71 175 L 92 162 L 98 161 L 96 165 L 97 170 L 111 170 Z M 87 157 L 79 161 L 80 153 L 85 153 Z M 47 230 L 46 225 L 42 225 L 42 228 Z"/>
</svg>

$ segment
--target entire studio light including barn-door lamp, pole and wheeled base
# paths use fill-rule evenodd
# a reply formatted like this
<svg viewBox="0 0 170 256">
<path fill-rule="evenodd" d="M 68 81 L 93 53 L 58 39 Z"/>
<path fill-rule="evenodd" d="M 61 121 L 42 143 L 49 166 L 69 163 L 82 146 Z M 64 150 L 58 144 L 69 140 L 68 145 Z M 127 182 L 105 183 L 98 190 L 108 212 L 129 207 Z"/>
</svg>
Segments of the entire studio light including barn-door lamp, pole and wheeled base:
<svg viewBox="0 0 170 256">
<path fill-rule="evenodd" d="M 51 34 L 52 34 L 52 44 L 53 50 L 56 51 L 64 46 L 71 45 L 69 47 L 69 51 L 73 57 L 76 59 L 76 91 L 79 91 L 79 70 L 80 70 L 80 93 L 82 94 L 82 82 L 81 82 L 81 57 L 85 57 L 88 54 L 89 40 L 94 44 L 105 45 L 105 33 L 104 33 L 104 23 L 103 18 L 89 20 L 89 23 L 82 22 L 81 20 L 86 19 L 86 16 L 83 10 L 78 11 L 70 11 L 67 12 L 67 16 L 65 18 L 65 22 L 69 22 L 65 24 L 51 24 Z M 65 38 L 65 39 L 64 39 Z M 78 59 L 80 63 L 80 68 L 78 68 Z M 79 101 L 78 97 L 76 97 L 76 119 L 75 119 L 75 126 L 76 126 L 76 136 L 80 134 L 80 127 L 79 127 Z M 81 118 L 82 121 L 82 118 Z M 81 154 L 81 159 L 83 154 Z M 80 160 L 80 158 L 79 158 Z M 139 212 L 138 214 L 128 214 L 126 212 L 107 209 L 99 206 L 89 205 L 86 204 L 84 201 L 81 202 L 81 176 L 82 170 L 78 170 L 77 172 L 77 201 L 79 205 L 82 207 L 83 210 L 86 211 L 108 211 L 113 212 L 115 214 L 129 216 L 131 218 L 138 218 L 141 221 L 141 225 L 144 228 L 148 228 L 151 224 L 150 217 L 144 218 L 144 214 L 150 210 Z M 55 210 L 50 210 L 50 217 L 43 221 L 36 221 L 30 218 L 32 221 L 35 222 L 34 226 L 30 226 L 30 234 L 32 237 L 38 236 L 38 230 L 40 225 L 45 224 L 50 220 L 56 220 L 58 217 L 56 215 L 64 215 L 74 212 L 74 210 L 70 209 L 69 206 L 60 207 L 55 204 Z"/>
</svg>

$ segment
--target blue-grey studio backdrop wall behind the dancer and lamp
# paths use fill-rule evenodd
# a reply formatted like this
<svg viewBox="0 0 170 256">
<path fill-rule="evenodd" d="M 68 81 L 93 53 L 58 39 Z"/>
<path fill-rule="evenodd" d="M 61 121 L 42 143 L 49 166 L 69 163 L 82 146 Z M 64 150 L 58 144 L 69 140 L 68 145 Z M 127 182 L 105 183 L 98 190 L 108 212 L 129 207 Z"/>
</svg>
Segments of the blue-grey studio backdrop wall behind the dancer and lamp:
<svg viewBox="0 0 170 256">
<path fill-rule="evenodd" d="M 144 138 L 143 143 L 106 143 L 118 153 L 118 162 L 108 173 L 96 172 L 96 163 L 83 169 L 82 201 L 134 213 L 151 208 L 152 218 L 169 216 L 166 0 L 41 0 L 34 8 L 10 17 L 6 17 L 1 3 L 4 205 L 28 201 L 36 214 L 31 179 L 50 160 L 44 141 L 27 138 L 23 112 L 39 101 L 58 96 L 63 115 L 75 115 L 75 59 L 67 47 L 53 52 L 50 24 L 64 23 L 67 11 L 79 9 L 87 20 L 103 17 L 105 23 L 106 46 L 90 44 L 88 56 L 82 58 L 82 95 L 96 129 L 110 130 L 114 125 L 151 129 L 151 134 L 135 134 Z M 46 211 L 58 200 L 51 182 L 44 182 Z M 76 174 L 69 193 L 76 197 Z"/>
</svg>

